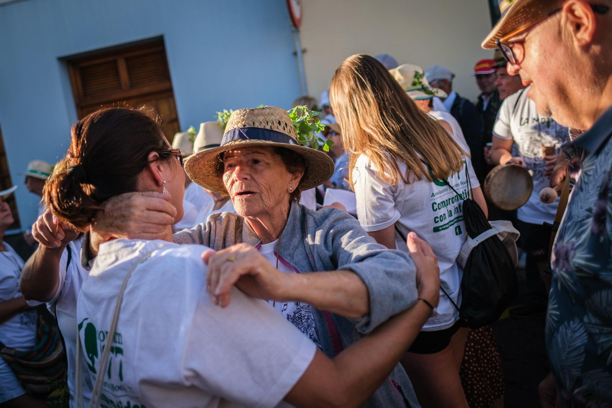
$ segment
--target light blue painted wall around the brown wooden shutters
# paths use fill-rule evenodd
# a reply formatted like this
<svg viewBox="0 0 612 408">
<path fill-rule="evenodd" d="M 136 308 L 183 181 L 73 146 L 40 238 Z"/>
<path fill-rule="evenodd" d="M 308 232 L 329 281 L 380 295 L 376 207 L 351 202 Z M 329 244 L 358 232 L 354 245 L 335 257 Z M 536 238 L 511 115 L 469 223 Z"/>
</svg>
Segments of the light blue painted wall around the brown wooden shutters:
<svg viewBox="0 0 612 408">
<path fill-rule="evenodd" d="M 23 172 L 56 162 L 76 110 L 61 57 L 163 36 L 181 128 L 223 108 L 291 107 L 300 94 L 284 0 L 26 0 L 0 7 L 0 127 L 22 227 Z"/>
</svg>

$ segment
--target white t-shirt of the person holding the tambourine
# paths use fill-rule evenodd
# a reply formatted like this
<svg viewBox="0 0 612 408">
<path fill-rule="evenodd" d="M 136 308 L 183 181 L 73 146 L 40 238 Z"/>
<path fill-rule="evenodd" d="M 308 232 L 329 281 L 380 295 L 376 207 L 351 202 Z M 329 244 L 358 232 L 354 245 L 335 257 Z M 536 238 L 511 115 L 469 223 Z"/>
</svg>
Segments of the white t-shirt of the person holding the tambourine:
<svg viewBox="0 0 612 408">
<path fill-rule="evenodd" d="M 551 204 L 540 201 L 540 191 L 550 187 L 550 180 L 544 175 L 546 163 L 542 146 L 554 146 L 555 154 L 559 154 L 561 145 L 569 140 L 569 130 L 552 118 L 540 116 L 535 102 L 527 97 L 528 90 L 529 87 L 504 99 L 493 126 L 493 135 L 514 140 L 524 167 L 533 177 L 534 189 L 528 202 L 517 210 L 518 219 L 541 225 L 545 221 L 554 221 L 558 206 L 558 201 Z"/>
</svg>

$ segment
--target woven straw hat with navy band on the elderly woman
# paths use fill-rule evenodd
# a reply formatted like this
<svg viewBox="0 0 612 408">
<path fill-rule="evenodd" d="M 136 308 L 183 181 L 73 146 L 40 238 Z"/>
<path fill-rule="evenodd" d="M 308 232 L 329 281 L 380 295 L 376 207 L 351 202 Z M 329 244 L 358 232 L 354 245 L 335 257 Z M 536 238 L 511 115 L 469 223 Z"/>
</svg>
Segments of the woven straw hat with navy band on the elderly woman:
<svg viewBox="0 0 612 408">
<path fill-rule="evenodd" d="M 228 195 L 222 180 L 222 153 L 255 146 L 282 147 L 304 157 L 306 169 L 301 181 L 302 191 L 325 183 L 334 174 L 334 162 L 327 154 L 297 143 L 296 129 L 289 114 L 278 107 L 235 110 L 228 119 L 221 145 L 193 154 L 185 162 L 185 172 L 196 184 Z"/>
</svg>

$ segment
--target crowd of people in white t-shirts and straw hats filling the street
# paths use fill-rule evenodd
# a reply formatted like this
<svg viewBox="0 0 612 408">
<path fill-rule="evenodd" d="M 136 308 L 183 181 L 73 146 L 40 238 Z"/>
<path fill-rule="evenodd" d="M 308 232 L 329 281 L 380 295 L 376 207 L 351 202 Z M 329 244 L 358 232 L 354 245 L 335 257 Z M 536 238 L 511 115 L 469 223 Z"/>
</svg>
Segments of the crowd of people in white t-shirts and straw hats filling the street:
<svg viewBox="0 0 612 408">
<path fill-rule="evenodd" d="M 360 54 L 294 102 L 312 132 L 263 105 L 172 140 L 145 108 L 76 122 L 26 170 L 26 262 L 0 191 L 0 407 L 501 407 L 462 307 L 498 260 L 524 263 L 510 314 L 547 313 L 541 405 L 612 404 L 610 3 L 500 1 L 475 102 Z M 485 194 L 502 167 L 529 173 L 516 210 Z"/>
</svg>

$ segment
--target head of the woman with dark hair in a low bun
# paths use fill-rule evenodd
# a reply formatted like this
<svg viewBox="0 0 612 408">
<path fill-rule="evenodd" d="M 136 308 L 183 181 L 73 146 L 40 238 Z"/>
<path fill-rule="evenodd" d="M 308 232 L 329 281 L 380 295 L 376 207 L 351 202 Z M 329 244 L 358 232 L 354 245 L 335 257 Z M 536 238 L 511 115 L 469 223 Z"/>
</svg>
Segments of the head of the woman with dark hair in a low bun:
<svg viewBox="0 0 612 408">
<path fill-rule="evenodd" d="M 182 218 L 184 187 L 177 186 L 185 182 L 185 175 L 177 174 L 182 173 L 182 156 L 150 115 L 107 108 L 72 126 L 68 153 L 56 165 L 43 197 L 59 219 L 87 230 L 100 203 L 132 191 L 171 192 L 175 218 Z"/>
</svg>

